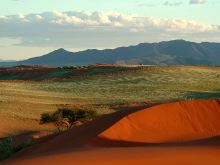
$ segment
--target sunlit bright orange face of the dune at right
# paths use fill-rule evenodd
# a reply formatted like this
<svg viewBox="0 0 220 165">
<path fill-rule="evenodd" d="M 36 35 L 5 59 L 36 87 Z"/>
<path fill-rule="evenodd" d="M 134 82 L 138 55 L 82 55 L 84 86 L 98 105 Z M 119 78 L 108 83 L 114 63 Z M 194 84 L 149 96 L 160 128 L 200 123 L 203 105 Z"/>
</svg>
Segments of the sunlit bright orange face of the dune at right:
<svg viewBox="0 0 220 165">
<path fill-rule="evenodd" d="M 97 136 L 97 140 L 172 143 L 220 135 L 220 101 L 161 104 L 134 112 Z"/>
</svg>

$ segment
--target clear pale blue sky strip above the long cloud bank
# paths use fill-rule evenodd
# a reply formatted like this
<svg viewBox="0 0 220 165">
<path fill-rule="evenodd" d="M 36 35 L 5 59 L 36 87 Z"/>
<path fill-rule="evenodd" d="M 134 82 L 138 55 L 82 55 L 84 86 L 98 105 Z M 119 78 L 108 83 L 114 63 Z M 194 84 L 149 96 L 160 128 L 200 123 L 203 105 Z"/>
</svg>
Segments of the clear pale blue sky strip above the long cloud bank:
<svg viewBox="0 0 220 165">
<path fill-rule="evenodd" d="M 3 2 L 2 2 L 3 1 Z M 218 24 L 219 0 L 206 0 L 204 4 L 189 5 L 189 0 L 2 0 L 1 15 L 41 13 L 44 11 L 117 11 L 125 14 L 159 18 L 179 18 Z M 181 5 L 164 5 L 165 2 Z"/>
</svg>

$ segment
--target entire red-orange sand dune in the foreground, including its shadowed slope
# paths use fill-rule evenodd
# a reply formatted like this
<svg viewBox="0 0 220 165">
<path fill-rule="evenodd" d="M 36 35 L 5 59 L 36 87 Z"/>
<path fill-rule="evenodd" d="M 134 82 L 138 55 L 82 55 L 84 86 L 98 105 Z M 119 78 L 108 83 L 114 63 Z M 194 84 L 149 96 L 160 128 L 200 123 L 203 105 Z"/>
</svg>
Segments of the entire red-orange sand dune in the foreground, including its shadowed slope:
<svg viewBox="0 0 220 165">
<path fill-rule="evenodd" d="M 217 165 L 219 135 L 218 100 L 168 103 L 116 112 L 42 138 L 4 163 Z"/>
</svg>

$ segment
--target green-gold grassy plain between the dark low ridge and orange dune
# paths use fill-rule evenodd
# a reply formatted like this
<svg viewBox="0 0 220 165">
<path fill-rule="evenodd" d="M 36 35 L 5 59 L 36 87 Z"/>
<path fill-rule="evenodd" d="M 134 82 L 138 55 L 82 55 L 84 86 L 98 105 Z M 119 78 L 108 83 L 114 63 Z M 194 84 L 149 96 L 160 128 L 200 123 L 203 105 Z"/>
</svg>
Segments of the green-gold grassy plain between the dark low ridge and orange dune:
<svg viewBox="0 0 220 165">
<path fill-rule="evenodd" d="M 66 105 L 110 113 L 113 104 L 220 98 L 219 75 L 214 67 L 164 66 L 69 81 L 0 82 L 0 119 L 15 123 L 7 130 L 0 125 L 0 137 L 45 129 L 38 125 L 40 115 Z"/>
</svg>

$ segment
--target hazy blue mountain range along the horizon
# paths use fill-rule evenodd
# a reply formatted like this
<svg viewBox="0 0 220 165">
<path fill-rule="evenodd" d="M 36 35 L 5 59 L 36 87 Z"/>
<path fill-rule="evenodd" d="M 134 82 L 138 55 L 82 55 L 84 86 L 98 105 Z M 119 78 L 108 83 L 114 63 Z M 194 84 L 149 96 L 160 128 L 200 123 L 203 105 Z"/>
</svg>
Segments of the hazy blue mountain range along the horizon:
<svg viewBox="0 0 220 165">
<path fill-rule="evenodd" d="M 220 65 L 220 43 L 195 43 L 185 40 L 141 43 L 116 49 L 88 49 L 69 52 L 58 49 L 46 55 L 16 62 L 0 62 L 0 66 L 13 65 L 90 65 L 96 63 L 145 65 Z"/>
</svg>

